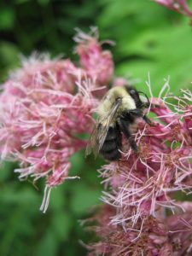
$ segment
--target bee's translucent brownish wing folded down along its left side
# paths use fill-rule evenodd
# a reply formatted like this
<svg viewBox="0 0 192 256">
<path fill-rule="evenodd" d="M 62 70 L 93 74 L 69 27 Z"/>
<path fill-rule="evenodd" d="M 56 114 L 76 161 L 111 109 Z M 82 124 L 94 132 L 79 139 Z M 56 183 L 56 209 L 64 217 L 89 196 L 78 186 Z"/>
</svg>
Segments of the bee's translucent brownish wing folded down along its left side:
<svg viewBox="0 0 192 256">
<path fill-rule="evenodd" d="M 87 144 L 85 154 L 88 155 L 93 150 L 97 155 L 102 148 L 103 143 L 108 135 L 108 128 L 112 123 L 115 113 L 117 113 L 121 101 L 114 102 L 111 111 L 108 113 L 108 117 L 104 119 L 98 119 L 96 126 L 90 135 L 90 140 Z"/>
</svg>

